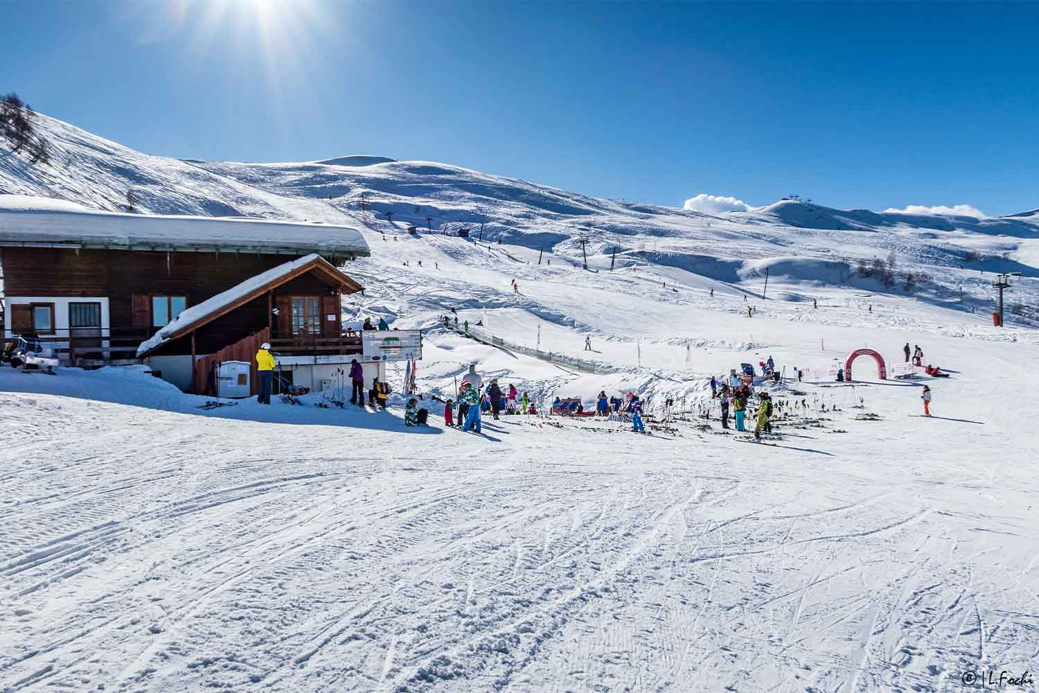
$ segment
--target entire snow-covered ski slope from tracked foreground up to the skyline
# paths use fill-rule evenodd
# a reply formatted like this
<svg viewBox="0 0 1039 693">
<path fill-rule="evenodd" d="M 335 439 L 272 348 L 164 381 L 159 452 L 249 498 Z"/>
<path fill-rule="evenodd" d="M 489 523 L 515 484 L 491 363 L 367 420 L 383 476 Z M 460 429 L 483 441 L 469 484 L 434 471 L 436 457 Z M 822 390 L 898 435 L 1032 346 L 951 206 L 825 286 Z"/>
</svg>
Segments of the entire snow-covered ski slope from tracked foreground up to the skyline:
<svg viewBox="0 0 1039 693">
<path fill-rule="evenodd" d="M 1024 319 L 991 326 L 988 288 L 1023 267 L 1013 294 L 1032 300 L 1034 217 L 708 217 L 441 164 L 179 162 L 46 127 L 71 165 L 0 153 L 0 191 L 115 210 L 133 179 L 154 213 L 361 222 L 372 255 L 347 271 L 366 292 L 344 321 L 425 330 L 431 416 L 404 427 L 396 395 L 388 411 L 321 395 L 199 409 L 142 367 L 0 367 L 0 690 L 954 691 L 1034 670 L 1039 342 Z M 356 210 L 363 191 L 392 223 Z M 416 206 L 448 229 L 485 208 L 491 242 L 412 237 Z M 588 270 L 579 219 L 602 241 Z M 891 249 L 933 283 L 854 272 Z M 990 257 L 958 262 L 968 249 Z M 467 339 L 438 326 L 452 308 L 615 372 Z M 867 358 L 854 383 L 825 376 L 906 342 L 952 377 L 879 381 Z M 752 444 L 707 383 L 770 355 L 822 375 L 766 385 L 781 416 Z M 650 434 L 540 416 L 448 429 L 429 397 L 471 363 L 542 411 L 638 393 Z M 678 414 L 659 423 L 667 398 Z"/>
</svg>

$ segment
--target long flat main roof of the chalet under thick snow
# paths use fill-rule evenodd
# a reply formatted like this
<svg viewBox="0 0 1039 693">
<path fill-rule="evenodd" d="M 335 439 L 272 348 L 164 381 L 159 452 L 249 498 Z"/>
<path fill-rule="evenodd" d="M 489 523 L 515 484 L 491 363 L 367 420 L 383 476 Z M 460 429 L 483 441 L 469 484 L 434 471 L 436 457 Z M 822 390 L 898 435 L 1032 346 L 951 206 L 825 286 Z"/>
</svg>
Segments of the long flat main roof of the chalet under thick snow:
<svg viewBox="0 0 1039 693">
<path fill-rule="evenodd" d="M 364 236 L 349 226 L 104 212 L 63 199 L 0 194 L 3 245 L 370 255 Z"/>
</svg>

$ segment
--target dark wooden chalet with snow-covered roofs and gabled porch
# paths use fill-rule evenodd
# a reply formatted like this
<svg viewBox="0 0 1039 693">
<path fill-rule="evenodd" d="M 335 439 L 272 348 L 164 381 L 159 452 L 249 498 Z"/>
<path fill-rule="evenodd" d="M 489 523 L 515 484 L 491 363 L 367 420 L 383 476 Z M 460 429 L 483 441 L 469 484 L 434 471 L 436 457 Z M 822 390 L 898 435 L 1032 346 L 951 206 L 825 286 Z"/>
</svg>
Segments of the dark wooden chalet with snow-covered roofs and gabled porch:
<svg viewBox="0 0 1039 693">
<path fill-rule="evenodd" d="M 342 296 L 362 287 L 337 266 L 368 255 L 347 226 L 0 195 L 4 338 L 38 340 L 70 365 L 148 363 L 199 394 L 217 362 L 251 363 L 264 341 L 292 362 L 289 377 L 308 359 L 339 368 L 362 351 L 341 323 Z"/>
</svg>

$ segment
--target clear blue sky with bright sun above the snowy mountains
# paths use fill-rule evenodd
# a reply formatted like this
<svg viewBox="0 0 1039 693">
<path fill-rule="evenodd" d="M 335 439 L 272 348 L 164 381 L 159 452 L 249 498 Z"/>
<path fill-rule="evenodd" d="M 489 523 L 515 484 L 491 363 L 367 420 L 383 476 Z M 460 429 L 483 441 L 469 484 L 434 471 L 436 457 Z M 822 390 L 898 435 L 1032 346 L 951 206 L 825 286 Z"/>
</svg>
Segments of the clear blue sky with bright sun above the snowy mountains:
<svg viewBox="0 0 1039 693">
<path fill-rule="evenodd" d="M 1039 207 L 1039 4 L 0 0 L 0 91 L 142 152 L 681 206 Z"/>
</svg>

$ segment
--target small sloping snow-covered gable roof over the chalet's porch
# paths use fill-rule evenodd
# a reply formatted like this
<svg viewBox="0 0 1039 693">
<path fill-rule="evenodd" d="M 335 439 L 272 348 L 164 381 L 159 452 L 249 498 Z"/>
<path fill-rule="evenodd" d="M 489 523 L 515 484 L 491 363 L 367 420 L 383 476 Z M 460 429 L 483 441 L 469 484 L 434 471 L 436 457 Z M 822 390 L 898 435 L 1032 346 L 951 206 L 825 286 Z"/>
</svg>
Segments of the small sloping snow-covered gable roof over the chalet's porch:
<svg viewBox="0 0 1039 693">
<path fill-rule="evenodd" d="M 185 309 L 179 316 L 166 324 L 165 327 L 140 343 L 140 346 L 137 347 L 137 357 L 139 358 L 155 351 L 166 342 L 182 337 L 191 329 L 202 327 L 207 322 L 215 320 L 263 292 L 285 284 L 289 279 L 309 272 L 312 269 L 319 269 L 326 274 L 330 273 L 330 276 L 341 285 L 351 287 L 354 291 L 361 290 L 361 285 L 332 267 L 331 264 L 318 254 L 312 252 L 303 258 L 272 267 L 256 276 L 250 276 L 227 291 L 221 291 L 196 305 Z"/>
</svg>

